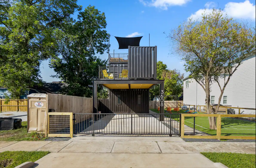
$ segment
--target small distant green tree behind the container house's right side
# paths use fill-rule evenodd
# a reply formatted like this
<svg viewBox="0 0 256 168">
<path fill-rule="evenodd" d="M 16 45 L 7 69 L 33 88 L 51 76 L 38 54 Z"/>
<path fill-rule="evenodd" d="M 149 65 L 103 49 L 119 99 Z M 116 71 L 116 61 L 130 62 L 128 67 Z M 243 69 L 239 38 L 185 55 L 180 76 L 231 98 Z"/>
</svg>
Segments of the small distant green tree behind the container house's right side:
<svg viewBox="0 0 256 168">
<path fill-rule="evenodd" d="M 183 77 L 179 70 L 169 70 L 162 61 L 157 62 L 157 79 L 164 79 L 164 95 L 178 95 L 183 93 Z M 160 95 L 160 86 L 155 85 L 150 89 L 150 98 Z M 172 100 L 173 97 L 164 97 L 164 100 Z"/>
</svg>

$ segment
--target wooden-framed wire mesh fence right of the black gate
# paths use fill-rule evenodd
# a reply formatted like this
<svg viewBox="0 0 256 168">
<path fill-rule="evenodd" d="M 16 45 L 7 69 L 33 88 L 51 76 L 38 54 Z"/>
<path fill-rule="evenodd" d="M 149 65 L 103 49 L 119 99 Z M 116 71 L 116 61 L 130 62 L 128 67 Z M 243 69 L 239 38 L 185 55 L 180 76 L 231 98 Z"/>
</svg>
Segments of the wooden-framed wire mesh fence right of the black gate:
<svg viewBox="0 0 256 168">
<path fill-rule="evenodd" d="M 210 129 L 214 117 L 217 129 Z M 182 138 L 255 139 L 255 114 L 182 114 Z"/>
</svg>

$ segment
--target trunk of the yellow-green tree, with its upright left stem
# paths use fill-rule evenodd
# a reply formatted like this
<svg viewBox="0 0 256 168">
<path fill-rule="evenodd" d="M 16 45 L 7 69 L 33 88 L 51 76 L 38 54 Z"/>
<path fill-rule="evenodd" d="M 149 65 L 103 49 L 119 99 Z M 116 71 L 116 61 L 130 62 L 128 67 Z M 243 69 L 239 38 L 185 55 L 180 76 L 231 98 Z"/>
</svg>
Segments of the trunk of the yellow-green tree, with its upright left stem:
<svg viewBox="0 0 256 168">
<path fill-rule="evenodd" d="M 205 105 L 206 105 L 206 112 L 207 114 L 214 114 L 213 110 L 210 107 L 210 83 L 209 79 L 206 77 L 205 79 Z M 217 129 L 216 123 L 215 123 L 215 117 L 208 117 L 209 119 L 209 125 L 210 129 Z"/>
</svg>

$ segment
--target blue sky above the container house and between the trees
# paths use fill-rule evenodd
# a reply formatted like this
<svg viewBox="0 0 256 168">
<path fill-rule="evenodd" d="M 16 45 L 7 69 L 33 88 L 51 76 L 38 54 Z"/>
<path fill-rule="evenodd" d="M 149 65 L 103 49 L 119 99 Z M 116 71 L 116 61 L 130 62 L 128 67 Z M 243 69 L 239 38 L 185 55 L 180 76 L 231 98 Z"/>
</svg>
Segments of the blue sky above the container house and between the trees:
<svg viewBox="0 0 256 168">
<path fill-rule="evenodd" d="M 122 53 L 127 50 L 117 50 L 118 43 L 113 36 L 138 37 L 143 36 L 140 46 L 157 46 L 157 60 L 167 64 L 168 69 L 179 69 L 185 76 L 183 63 L 178 55 L 171 53 L 168 34 L 189 17 L 200 18 L 204 8 L 211 11 L 213 7 L 224 11 L 237 20 L 251 20 L 255 25 L 255 0 L 78 0 L 78 5 L 83 9 L 88 5 L 94 5 L 106 15 L 107 33 L 110 37 L 110 53 Z M 77 17 L 78 12 L 72 15 Z M 107 54 L 97 54 L 101 59 L 107 59 Z M 46 82 L 59 81 L 50 77 L 55 74 L 49 68 L 49 61 L 41 64 L 41 76 Z"/>
</svg>

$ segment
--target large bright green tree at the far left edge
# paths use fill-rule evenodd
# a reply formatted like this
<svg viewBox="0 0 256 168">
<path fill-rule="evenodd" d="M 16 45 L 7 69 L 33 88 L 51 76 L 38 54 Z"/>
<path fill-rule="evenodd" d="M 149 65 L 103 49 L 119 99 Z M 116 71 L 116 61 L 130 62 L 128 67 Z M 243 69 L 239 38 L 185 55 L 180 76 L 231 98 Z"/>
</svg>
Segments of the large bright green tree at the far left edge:
<svg viewBox="0 0 256 168">
<path fill-rule="evenodd" d="M 40 62 L 56 54 L 54 30 L 80 8 L 76 0 L 1 0 L 0 86 L 10 98 L 42 82 Z"/>
</svg>

